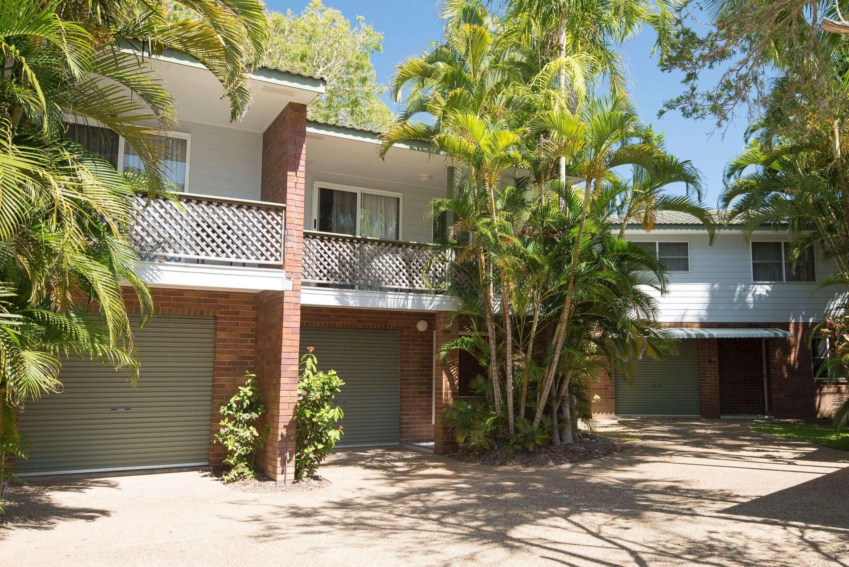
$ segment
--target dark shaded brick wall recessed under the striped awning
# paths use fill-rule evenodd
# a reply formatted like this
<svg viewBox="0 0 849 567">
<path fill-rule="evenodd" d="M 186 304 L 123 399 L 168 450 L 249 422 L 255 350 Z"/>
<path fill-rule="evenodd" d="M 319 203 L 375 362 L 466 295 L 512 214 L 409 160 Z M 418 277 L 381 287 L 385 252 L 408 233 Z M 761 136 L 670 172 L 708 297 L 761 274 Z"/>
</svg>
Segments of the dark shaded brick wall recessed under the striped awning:
<svg viewBox="0 0 849 567">
<path fill-rule="evenodd" d="M 723 416 L 762 415 L 763 354 L 760 338 L 718 341 L 719 407 Z"/>
</svg>

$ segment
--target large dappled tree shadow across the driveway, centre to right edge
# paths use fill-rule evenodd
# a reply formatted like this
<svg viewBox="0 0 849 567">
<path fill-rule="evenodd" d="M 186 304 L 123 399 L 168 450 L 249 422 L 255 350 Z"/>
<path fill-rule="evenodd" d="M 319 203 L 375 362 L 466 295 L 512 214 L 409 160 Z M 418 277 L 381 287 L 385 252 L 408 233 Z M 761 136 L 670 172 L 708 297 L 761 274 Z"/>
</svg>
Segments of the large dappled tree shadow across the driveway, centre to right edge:
<svg viewBox="0 0 849 567">
<path fill-rule="evenodd" d="M 842 512 L 824 516 L 817 490 L 846 486 L 837 471 L 753 498 L 711 488 L 677 468 L 796 472 L 784 445 L 763 444 L 751 430 L 700 422 L 704 435 L 664 423 L 644 423 L 651 442 L 596 461 L 551 468 L 494 468 L 404 451 L 346 451 L 333 467 L 355 467 L 362 489 L 316 506 L 261 502 L 241 521 L 256 523 L 256 541 L 314 536 L 315 553 L 339 545 L 380 545 L 410 563 L 453 556 L 445 564 L 505 560 L 514 553 L 565 565 L 755 565 L 796 567 L 801 558 L 845 564 L 849 524 Z M 648 428 L 648 430 L 646 430 Z M 765 451 L 761 451 L 765 449 Z M 806 449 L 809 449 L 806 447 Z M 807 465 L 806 465 L 807 466 Z M 702 472 L 697 472 L 699 474 Z M 810 474 L 810 473 L 809 473 Z M 831 475 L 837 475 L 834 479 Z M 801 478 L 801 477 L 800 477 Z M 807 477 L 806 477 L 807 478 Z M 795 491 L 795 489 L 798 489 Z M 841 489 L 842 490 L 842 489 Z M 840 493 L 840 492 L 838 492 Z M 314 548 L 313 548 L 314 547 Z M 456 551 L 455 551 L 456 550 Z"/>
</svg>

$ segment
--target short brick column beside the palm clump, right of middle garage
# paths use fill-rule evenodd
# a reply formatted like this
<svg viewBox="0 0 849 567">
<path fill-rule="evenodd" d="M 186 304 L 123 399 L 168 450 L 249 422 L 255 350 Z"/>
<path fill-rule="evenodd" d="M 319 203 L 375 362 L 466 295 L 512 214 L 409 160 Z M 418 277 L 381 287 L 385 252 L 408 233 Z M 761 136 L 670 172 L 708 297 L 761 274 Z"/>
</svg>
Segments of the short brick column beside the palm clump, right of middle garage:
<svg viewBox="0 0 849 567">
<path fill-rule="evenodd" d="M 459 324 L 456 318 L 452 324 L 448 324 L 448 316 L 444 311 L 436 312 L 436 349 L 443 343 L 447 343 L 459 335 Z M 453 350 L 445 360 L 436 357 L 434 360 L 434 398 L 436 403 L 434 423 L 434 452 L 436 455 L 445 455 L 456 450 L 457 442 L 454 440 L 453 429 L 442 425 L 442 417 L 445 416 L 447 408 L 457 400 L 459 395 L 458 377 L 458 353 Z"/>
</svg>

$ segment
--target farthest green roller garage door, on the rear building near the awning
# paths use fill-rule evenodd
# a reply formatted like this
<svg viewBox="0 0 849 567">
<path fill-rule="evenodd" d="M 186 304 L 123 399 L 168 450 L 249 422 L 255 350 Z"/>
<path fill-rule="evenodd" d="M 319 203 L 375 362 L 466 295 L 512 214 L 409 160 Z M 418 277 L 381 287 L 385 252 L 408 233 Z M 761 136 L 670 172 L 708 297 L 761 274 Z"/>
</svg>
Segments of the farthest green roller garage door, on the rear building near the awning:
<svg viewBox="0 0 849 567">
<path fill-rule="evenodd" d="M 683 340 L 677 356 L 666 360 L 646 357 L 636 366 L 630 386 L 616 376 L 616 415 L 700 415 L 698 341 Z"/>
</svg>

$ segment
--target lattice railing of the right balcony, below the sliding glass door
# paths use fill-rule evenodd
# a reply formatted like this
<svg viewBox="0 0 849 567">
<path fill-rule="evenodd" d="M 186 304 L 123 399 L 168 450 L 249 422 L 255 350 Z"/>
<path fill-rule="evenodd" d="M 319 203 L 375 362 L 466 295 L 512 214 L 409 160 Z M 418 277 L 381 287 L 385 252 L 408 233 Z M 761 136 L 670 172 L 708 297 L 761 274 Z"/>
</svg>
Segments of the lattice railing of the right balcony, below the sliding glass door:
<svg viewBox="0 0 849 567">
<path fill-rule="evenodd" d="M 424 281 L 427 245 L 304 231 L 302 278 L 329 286 L 429 292 Z M 430 271 L 436 289 L 446 281 L 446 266 Z"/>
</svg>

